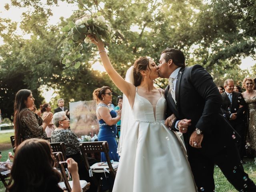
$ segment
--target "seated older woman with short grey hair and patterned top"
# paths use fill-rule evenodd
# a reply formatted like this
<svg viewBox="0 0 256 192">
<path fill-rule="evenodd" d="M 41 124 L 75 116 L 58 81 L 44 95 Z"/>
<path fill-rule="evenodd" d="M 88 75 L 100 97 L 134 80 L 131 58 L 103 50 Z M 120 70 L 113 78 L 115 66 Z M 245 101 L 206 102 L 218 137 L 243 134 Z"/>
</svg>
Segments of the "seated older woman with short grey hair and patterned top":
<svg viewBox="0 0 256 192">
<path fill-rule="evenodd" d="M 81 180 L 89 180 L 82 155 L 80 154 L 79 141 L 76 134 L 69 130 L 70 121 L 64 111 L 53 115 L 52 123 L 56 129 L 51 134 L 52 142 L 64 142 L 66 146 L 66 157 L 73 158 L 78 164 L 78 174 Z"/>
</svg>

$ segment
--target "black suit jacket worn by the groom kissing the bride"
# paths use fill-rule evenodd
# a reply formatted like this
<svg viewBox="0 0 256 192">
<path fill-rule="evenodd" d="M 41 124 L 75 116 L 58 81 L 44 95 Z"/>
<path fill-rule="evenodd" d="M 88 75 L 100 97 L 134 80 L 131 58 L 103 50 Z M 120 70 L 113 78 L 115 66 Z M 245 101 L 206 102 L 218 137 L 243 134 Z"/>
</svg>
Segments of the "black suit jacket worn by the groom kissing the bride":
<svg viewBox="0 0 256 192">
<path fill-rule="evenodd" d="M 200 65 L 181 68 L 176 82 L 175 98 L 168 94 L 169 85 L 165 90 L 167 101 L 166 117 L 172 113 L 177 120 L 190 119 L 192 125 L 183 134 L 188 155 L 195 152 L 189 145 L 190 135 L 196 128 L 203 134 L 202 148 L 209 155 L 214 155 L 232 140 L 234 129 L 221 114 L 222 97 L 210 74 Z M 239 136 L 238 136 L 239 137 Z"/>
</svg>

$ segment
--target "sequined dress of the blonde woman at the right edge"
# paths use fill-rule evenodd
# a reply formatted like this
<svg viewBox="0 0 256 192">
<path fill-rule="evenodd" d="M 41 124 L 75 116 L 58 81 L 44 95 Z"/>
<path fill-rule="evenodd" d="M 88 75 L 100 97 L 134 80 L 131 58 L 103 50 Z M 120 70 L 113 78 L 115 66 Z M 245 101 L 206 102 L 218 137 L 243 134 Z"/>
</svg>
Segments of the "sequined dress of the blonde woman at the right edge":
<svg viewBox="0 0 256 192">
<path fill-rule="evenodd" d="M 248 104 L 249 110 L 249 126 L 246 138 L 246 154 L 251 157 L 256 157 L 256 96 L 252 99 L 244 99 Z"/>
</svg>

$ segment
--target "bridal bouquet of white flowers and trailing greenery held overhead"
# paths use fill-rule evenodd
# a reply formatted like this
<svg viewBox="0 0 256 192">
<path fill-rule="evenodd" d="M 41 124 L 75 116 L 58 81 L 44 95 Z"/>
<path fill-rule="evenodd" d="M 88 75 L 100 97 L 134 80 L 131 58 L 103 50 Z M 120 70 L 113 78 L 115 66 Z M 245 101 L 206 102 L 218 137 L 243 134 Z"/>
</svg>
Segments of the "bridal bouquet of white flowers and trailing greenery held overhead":
<svg viewBox="0 0 256 192">
<path fill-rule="evenodd" d="M 90 39 L 86 38 L 88 34 L 94 34 L 96 39 L 101 39 L 106 44 L 111 42 L 111 27 L 106 22 L 103 16 L 83 15 L 77 18 L 75 23 L 70 21 L 67 26 L 62 28 L 64 33 L 64 40 L 60 44 L 62 47 L 62 64 L 66 67 L 74 64 L 75 68 L 79 68 L 80 61 L 76 62 L 76 59 L 80 58 L 80 50 L 82 50 L 82 42 L 90 43 Z"/>
</svg>

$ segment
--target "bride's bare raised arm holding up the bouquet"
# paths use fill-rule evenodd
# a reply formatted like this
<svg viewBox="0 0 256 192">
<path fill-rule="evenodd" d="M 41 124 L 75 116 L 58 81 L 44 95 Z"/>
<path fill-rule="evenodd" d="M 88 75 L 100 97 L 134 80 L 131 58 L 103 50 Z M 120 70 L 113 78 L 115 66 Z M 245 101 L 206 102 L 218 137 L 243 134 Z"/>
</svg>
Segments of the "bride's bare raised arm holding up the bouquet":
<svg viewBox="0 0 256 192">
<path fill-rule="evenodd" d="M 106 50 L 104 48 L 103 42 L 101 40 L 95 40 L 94 36 L 92 35 L 88 35 L 88 37 L 90 38 L 92 43 L 94 43 L 98 47 L 102 64 L 114 84 L 127 96 L 128 100 L 129 98 L 134 97 L 131 96 L 131 94 L 135 94 L 135 86 L 129 82 L 126 82 L 126 80 L 124 80 L 122 76 L 120 76 L 120 74 L 118 74 L 118 72 L 116 72 L 116 70 L 113 68 L 108 58 L 108 54 L 106 53 Z"/>
</svg>

